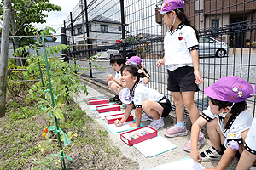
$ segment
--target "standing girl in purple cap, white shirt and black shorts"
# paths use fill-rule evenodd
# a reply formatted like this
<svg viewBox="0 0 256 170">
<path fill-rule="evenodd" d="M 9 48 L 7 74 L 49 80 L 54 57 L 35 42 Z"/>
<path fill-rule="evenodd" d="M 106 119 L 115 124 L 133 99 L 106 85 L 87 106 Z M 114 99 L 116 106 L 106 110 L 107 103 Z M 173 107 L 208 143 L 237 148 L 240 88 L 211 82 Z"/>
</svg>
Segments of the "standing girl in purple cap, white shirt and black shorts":
<svg viewBox="0 0 256 170">
<path fill-rule="evenodd" d="M 177 124 L 165 131 L 167 137 L 188 134 L 184 124 L 184 106 L 189 111 L 192 124 L 199 117 L 194 102 L 194 94 L 199 91 L 197 84 L 203 83 L 197 53 L 199 35 L 195 27 L 189 24 L 184 14 L 184 5 L 183 0 L 166 0 L 159 10 L 166 26 L 171 26 L 171 29 L 166 32 L 164 39 L 165 56 L 156 62 L 156 66 L 167 67 L 169 75 L 167 89 L 172 92 L 177 116 Z M 198 147 L 205 141 L 201 132 L 198 141 Z M 184 150 L 188 152 L 191 150 L 190 139 L 184 145 Z"/>
</svg>

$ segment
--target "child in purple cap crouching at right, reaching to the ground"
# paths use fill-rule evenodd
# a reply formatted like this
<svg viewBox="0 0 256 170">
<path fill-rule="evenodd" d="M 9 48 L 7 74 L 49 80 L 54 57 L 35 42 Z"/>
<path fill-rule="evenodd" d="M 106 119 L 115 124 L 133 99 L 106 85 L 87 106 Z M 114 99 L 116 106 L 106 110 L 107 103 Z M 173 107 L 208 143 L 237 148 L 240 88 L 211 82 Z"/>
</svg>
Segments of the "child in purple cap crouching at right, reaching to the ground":
<svg viewBox="0 0 256 170">
<path fill-rule="evenodd" d="M 220 160 L 216 169 L 225 169 L 244 150 L 253 121 L 245 100 L 252 96 L 253 87 L 240 77 L 229 76 L 205 88 L 205 94 L 210 97 L 209 106 L 192 126 L 190 156 L 195 162 Z M 204 125 L 212 146 L 199 153 L 198 135 Z"/>
</svg>

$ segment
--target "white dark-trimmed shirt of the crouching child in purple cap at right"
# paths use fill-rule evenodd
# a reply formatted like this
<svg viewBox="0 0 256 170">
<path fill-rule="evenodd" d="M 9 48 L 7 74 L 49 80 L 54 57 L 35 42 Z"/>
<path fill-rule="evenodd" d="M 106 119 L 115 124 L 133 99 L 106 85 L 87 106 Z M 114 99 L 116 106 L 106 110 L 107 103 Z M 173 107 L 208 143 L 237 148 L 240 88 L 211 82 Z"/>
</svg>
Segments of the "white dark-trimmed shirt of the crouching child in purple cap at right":
<svg viewBox="0 0 256 170">
<path fill-rule="evenodd" d="M 239 115 L 232 115 L 226 126 L 224 126 L 222 118 L 213 114 L 210 106 L 208 106 L 207 110 L 203 111 L 201 116 L 205 118 L 207 122 L 211 122 L 214 118 L 217 118 L 221 133 L 226 137 L 224 140 L 224 146 L 226 148 L 229 145 L 228 143 L 232 140 L 237 141 L 238 144 L 242 144 L 241 133 L 249 129 L 253 121 L 253 116 L 247 110 L 244 110 L 241 111 Z"/>
</svg>

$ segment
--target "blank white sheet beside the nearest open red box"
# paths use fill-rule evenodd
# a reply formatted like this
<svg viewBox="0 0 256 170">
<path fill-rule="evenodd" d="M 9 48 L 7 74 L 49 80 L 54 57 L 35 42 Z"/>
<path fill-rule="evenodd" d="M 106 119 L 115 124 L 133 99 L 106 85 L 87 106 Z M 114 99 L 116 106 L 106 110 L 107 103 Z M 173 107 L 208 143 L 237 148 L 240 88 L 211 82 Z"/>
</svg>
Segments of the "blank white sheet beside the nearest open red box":
<svg viewBox="0 0 256 170">
<path fill-rule="evenodd" d="M 137 150 L 139 150 L 145 157 L 157 156 L 168 150 L 177 148 L 175 144 L 172 144 L 172 142 L 161 136 L 156 136 L 152 139 L 148 139 L 138 144 L 134 144 L 133 146 Z"/>
</svg>

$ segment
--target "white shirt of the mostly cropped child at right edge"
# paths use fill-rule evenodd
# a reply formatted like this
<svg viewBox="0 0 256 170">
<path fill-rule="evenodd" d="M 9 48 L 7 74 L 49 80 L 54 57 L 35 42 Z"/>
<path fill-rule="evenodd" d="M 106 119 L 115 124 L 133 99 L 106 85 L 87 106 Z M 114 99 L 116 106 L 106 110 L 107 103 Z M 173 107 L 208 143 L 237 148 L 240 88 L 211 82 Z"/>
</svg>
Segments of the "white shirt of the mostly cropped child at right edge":
<svg viewBox="0 0 256 170">
<path fill-rule="evenodd" d="M 256 119 L 253 119 L 252 126 L 247 133 L 244 148 L 251 154 L 256 155 Z"/>
</svg>

